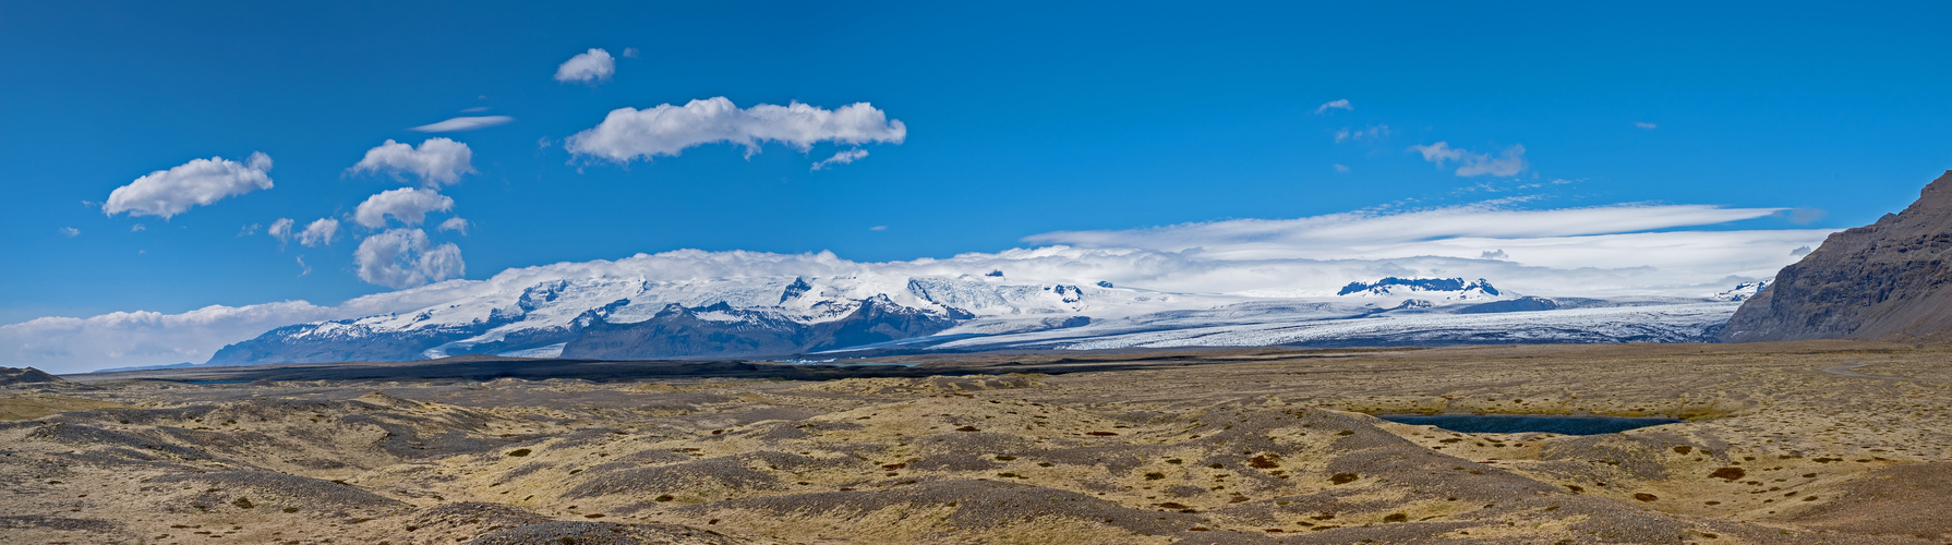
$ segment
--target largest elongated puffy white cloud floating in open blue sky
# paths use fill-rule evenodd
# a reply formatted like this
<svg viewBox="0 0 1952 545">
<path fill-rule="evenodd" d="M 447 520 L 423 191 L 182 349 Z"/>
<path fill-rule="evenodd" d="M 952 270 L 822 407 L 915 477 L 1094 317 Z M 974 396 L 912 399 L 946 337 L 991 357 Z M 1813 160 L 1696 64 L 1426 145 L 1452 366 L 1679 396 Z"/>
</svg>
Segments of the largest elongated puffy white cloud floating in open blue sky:
<svg viewBox="0 0 1952 545">
<path fill-rule="evenodd" d="M 908 137 L 900 119 L 867 102 L 822 109 L 806 104 L 759 104 L 738 107 L 726 98 L 693 100 L 685 105 L 660 104 L 650 109 L 611 109 L 597 127 L 572 135 L 564 147 L 574 154 L 630 162 L 636 158 L 677 156 L 677 152 L 709 143 L 734 143 L 746 154 L 773 141 L 806 150 L 816 143 L 894 143 Z"/>
</svg>

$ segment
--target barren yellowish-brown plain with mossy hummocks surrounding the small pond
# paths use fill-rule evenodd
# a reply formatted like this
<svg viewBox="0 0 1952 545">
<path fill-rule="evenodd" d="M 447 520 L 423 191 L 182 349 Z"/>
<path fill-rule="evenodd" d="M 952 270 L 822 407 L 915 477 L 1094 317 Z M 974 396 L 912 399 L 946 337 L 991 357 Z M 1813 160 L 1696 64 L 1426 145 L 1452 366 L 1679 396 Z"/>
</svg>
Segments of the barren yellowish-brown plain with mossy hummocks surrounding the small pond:
<svg viewBox="0 0 1952 545">
<path fill-rule="evenodd" d="M 443 359 L 0 387 L 6 543 L 1952 543 L 1952 348 Z M 1605 436 L 1374 414 L 1671 416 Z"/>
</svg>

